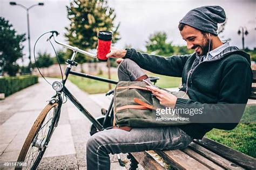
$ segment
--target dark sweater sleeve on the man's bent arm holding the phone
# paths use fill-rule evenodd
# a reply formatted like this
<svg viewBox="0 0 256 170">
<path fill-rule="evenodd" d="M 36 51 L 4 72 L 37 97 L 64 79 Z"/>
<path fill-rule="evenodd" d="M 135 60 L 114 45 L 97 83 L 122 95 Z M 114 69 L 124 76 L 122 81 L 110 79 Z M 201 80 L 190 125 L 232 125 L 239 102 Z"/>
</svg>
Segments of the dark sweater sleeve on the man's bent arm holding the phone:
<svg viewBox="0 0 256 170">
<path fill-rule="evenodd" d="M 203 108 L 203 114 L 191 116 L 193 123 L 211 128 L 231 130 L 239 123 L 251 93 L 252 70 L 246 62 L 235 62 L 224 69 L 217 104 L 200 103 L 178 98 L 176 108 Z M 220 123 L 221 122 L 221 123 Z"/>
</svg>

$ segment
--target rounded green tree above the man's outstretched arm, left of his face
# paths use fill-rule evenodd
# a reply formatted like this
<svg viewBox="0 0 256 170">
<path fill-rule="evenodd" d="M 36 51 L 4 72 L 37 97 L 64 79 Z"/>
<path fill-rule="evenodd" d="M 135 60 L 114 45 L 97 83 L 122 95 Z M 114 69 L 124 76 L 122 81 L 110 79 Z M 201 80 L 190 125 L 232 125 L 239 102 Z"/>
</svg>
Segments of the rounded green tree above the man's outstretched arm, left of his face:
<svg viewBox="0 0 256 170">
<path fill-rule="evenodd" d="M 174 52 L 172 42 L 166 42 L 167 34 L 165 32 L 156 32 L 151 34 L 149 41 L 146 41 L 147 53 L 156 55 L 172 55 Z"/>
</svg>

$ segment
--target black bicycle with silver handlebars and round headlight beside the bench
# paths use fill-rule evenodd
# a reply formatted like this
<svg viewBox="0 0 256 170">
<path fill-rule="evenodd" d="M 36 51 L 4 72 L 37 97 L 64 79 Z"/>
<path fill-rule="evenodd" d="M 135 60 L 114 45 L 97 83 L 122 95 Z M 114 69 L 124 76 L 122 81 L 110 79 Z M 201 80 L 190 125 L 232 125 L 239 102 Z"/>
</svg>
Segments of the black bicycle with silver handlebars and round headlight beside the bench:
<svg viewBox="0 0 256 170">
<path fill-rule="evenodd" d="M 92 123 L 91 128 L 90 128 L 91 136 L 99 131 L 113 128 L 113 116 L 114 116 L 113 115 L 113 97 L 110 102 L 109 108 L 107 110 L 102 109 L 102 115 L 104 115 L 104 116 L 94 118 L 89 113 L 89 111 L 87 111 L 83 107 L 83 105 L 78 102 L 78 100 L 75 98 L 75 96 L 73 96 L 70 93 L 70 91 L 65 87 L 65 82 L 68 79 L 69 74 L 80 76 L 80 77 L 85 77 L 85 78 L 89 78 L 89 79 L 93 79 L 93 80 L 103 81 L 106 83 L 112 83 L 112 84 L 117 84 L 118 81 L 113 81 L 111 79 L 105 79 L 103 77 L 98 77 L 98 76 L 93 76 L 93 75 L 88 75 L 85 73 L 79 73 L 79 72 L 72 71 L 71 68 L 78 65 L 78 63 L 75 62 L 77 53 L 81 53 L 81 54 L 90 56 L 92 58 L 96 58 L 96 54 L 92 54 L 90 52 L 83 51 L 82 49 L 79 49 L 77 47 L 63 44 L 62 42 L 59 42 L 55 39 L 55 36 L 57 37 L 59 34 L 57 31 L 51 31 L 51 33 L 52 34 L 48 40 L 50 40 L 53 37 L 54 41 L 57 44 L 71 49 L 73 51 L 73 54 L 71 56 L 71 59 L 66 60 L 66 64 L 68 66 L 66 67 L 64 76 L 62 75 L 62 77 L 64 77 L 62 79 L 62 81 L 55 81 L 52 83 L 52 88 L 56 91 L 56 94 L 51 97 L 51 99 L 48 101 L 49 103 L 45 106 L 45 108 L 41 111 L 41 113 L 37 117 L 35 123 L 32 125 L 32 128 L 31 128 L 28 136 L 25 139 L 25 142 L 22 146 L 22 150 L 19 153 L 17 161 L 18 162 L 23 162 L 23 161 L 26 162 L 26 165 L 27 165 L 26 168 L 30 168 L 30 169 L 36 169 L 37 166 L 39 165 L 39 162 L 41 161 L 43 154 L 49 144 L 52 133 L 58 125 L 58 121 L 59 121 L 59 117 L 60 117 L 60 110 L 61 110 L 61 107 L 63 104 L 64 96 L 66 96 L 82 112 L 82 114 L 84 114 L 84 116 L 87 117 L 91 121 L 91 123 Z M 39 37 L 39 38 L 41 38 L 41 37 Z M 51 45 L 52 45 L 52 43 L 51 43 Z M 36 46 L 36 44 L 35 44 L 35 46 Z M 35 56 L 35 47 L 34 47 L 34 56 Z M 60 71 L 62 72 L 61 69 L 60 69 Z M 40 70 L 39 70 L 39 73 L 41 74 Z M 158 77 L 150 77 L 150 80 L 152 82 L 154 82 L 154 84 L 157 82 L 158 79 L 159 79 Z M 106 96 L 111 95 L 113 93 L 114 93 L 114 90 L 109 90 L 106 93 Z M 63 94 L 63 97 L 62 97 L 62 94 Z M 136 167 L 137 162 L 134 162 L 136 160 L 134 158 L 132 158 L 131 154 L 129 154 L 129 157 L 130 157 L 129 159 L 132 160 L 131 166 Z M 118 161 L 121 166 L 124 166 L 124 165 L 122 165 L 122 161 L 120 160 L 120 157 L 118 157 Z M 20 167 L 16 167 L 15 169 L 19 169 L 19 168 Z"/>
</svg>

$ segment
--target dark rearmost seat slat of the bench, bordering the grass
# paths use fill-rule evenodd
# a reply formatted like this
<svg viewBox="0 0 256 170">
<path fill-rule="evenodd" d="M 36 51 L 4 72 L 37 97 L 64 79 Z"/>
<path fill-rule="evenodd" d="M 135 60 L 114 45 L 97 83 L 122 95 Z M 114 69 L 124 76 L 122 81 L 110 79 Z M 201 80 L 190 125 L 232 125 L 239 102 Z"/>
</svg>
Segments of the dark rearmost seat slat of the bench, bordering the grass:
<svg viewBox="0 0 256 170">
<path fill-rule="evenodd" d="M 194 142 L 218 155 L 221 155 L 221 157 L 240 165 L 241 167 L 246 169 L 256 169 L 256 159 L 244 153 L 233 150 L 230 147 L 224 146 L 217 141 L 203 138 L 202 140 L 194 140 Z"/>
</svg>

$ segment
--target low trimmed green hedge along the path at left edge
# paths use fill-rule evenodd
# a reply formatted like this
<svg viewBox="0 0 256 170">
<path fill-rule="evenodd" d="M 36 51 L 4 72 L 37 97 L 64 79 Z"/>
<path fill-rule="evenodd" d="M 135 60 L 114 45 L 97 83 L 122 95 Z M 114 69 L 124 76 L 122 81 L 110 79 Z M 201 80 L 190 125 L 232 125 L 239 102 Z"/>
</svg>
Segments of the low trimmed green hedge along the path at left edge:
<svg viewBox="0 0 256 170">
<path fill-rule="evenodd" d="M 38 76 L 35 75 L 3 77 L 0 78 L 0 93 L 4 93 L 5 96 L 9 96 L 16 91 L 36 83 L 38 83 Z"/>
</svg>

